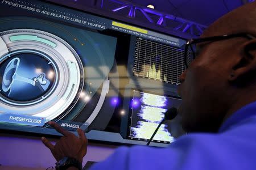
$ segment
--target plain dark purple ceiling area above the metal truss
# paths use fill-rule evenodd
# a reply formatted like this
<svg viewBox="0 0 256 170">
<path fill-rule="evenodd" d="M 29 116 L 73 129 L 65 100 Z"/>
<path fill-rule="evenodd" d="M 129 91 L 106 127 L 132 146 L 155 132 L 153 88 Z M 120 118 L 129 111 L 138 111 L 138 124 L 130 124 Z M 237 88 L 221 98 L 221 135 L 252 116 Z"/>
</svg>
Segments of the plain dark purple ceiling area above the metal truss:
<svg viewBox="0 0 256 170">
<path fill-rule="evenodd" d="M 129 2 L 147 6 L 155 10 L 179 16 L 193 22 L 209 25 L 227 12 L 243 5 L 242 0 L 130 0 Z"/>
</svg>

